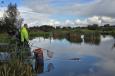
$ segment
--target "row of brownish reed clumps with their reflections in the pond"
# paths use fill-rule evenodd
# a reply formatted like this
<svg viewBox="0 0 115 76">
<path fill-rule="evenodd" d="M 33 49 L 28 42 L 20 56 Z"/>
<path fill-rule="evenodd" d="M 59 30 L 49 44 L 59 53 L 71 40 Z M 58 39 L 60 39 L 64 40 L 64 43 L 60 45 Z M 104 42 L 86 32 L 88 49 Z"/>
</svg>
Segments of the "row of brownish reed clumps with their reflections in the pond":
<svg viewBox="0 0 115 76">
<path fill-rule="evenodd" d="M 79 33 L 68 33 L 68 34 L 61 34 L 61 33 L 54 33 L 53 39 L 67 39 L 71 43 L 87 43 L 87 44 L 93 44 L 93 45 L 99 45 L 100 44 L 100 34 L 85 34 L 83 38 L 82 35 Z"/>
</svg>

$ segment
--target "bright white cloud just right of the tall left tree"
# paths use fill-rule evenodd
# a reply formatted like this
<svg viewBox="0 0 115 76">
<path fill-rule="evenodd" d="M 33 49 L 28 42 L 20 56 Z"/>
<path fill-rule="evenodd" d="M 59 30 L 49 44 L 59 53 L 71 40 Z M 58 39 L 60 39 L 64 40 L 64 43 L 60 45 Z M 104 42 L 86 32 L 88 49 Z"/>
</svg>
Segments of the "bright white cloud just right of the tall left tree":
<svg viewBox="0 0 115 76">
<path fill-rule="evenodd" d="M 28 7 L 19 7 L 20 15 L 24 19 L 24 23 L 31 26 L 40 26 L 49 21 L 48 14 L 36 13 Z"/>
</svg>

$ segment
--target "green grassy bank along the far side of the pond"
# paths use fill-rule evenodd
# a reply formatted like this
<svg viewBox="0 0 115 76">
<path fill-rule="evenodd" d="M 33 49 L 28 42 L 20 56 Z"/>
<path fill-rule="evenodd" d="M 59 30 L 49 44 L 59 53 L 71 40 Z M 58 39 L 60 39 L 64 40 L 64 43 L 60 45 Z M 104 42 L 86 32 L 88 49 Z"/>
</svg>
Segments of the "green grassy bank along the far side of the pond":
<svg viewBox="0 0 115 76">
<path fill-rule="evenodd" d="M 58 30 L 53 30 L 50 32 L 44 32 L 44 31 L 30 31 L 30 37 L 45 37 L 48 38 L 49 36 L 52 35 L 64 35 L 68 33 L 77 33 L 77 34 L 82 34 L 82 35 L 89 35 L 89 34 L 102 34 L 102 35 L 112 35 L 115 36 L 115 30 L 111 31 L 102 31 L 102 30 L 89 30 L 89 29 L 73 29 L 73 30 L 63 30 L 63 29 L 58 29 Z"/>
</svg>

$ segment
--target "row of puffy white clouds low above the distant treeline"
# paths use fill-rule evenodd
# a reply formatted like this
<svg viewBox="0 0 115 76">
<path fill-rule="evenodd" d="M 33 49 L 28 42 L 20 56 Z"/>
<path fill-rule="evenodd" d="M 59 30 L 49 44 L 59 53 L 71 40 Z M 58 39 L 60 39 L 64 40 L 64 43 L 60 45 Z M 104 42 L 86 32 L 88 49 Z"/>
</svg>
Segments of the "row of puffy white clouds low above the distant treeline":
<svg viewBox="0 0 115 76">
<path fill-rule="evenodd" d="M 98 24 L 99 26 L 104 26 L 104 24 L 115 24 L 115 18 L 107 17 L 107 16 L 92 16 L 88 17 L 84 20 L 76 19 L 76 20 L 65 20 L 63 22 L 60 22 L 55 19 L 49 19 L 49 21 L 46 23 L 51 26 L 64 26 L 64 27 L 86 27 L 88 25 Z"/>
</svg>

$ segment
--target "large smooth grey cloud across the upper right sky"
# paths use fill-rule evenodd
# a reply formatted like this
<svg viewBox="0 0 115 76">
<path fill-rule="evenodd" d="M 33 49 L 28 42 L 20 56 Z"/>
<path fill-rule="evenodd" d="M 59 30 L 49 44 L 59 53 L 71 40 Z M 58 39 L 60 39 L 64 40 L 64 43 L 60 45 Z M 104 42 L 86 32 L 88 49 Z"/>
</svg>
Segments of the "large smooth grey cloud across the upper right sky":
<svg viewBox="0 0 115 76">
<path fill-rule="evenodd" d="M 115 0 L 95 0 L 87 4 L 73 4 L 60 8 L 61 12 L 77 16 L 110 16 L 115 17 Z"/>
</svg>

